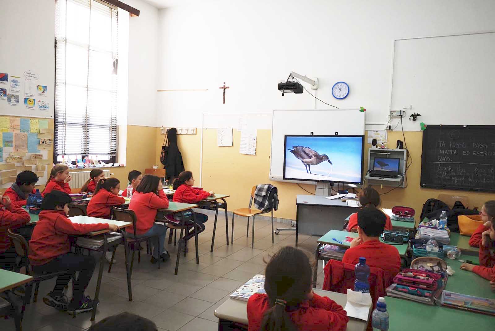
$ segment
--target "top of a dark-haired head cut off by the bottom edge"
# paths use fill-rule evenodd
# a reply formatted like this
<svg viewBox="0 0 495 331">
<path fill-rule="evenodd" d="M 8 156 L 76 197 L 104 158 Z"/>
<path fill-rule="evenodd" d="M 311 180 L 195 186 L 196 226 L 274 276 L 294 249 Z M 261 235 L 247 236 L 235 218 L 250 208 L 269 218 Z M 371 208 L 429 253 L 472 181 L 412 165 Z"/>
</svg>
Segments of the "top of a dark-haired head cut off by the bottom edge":
<svg viewBox="0 0 495 331">
<path fill-rule="evenodd" d="M 157 331 L 154 322 L 128 312 L 108 316 L 93 324 L 89 331 Z"/>
</svg>

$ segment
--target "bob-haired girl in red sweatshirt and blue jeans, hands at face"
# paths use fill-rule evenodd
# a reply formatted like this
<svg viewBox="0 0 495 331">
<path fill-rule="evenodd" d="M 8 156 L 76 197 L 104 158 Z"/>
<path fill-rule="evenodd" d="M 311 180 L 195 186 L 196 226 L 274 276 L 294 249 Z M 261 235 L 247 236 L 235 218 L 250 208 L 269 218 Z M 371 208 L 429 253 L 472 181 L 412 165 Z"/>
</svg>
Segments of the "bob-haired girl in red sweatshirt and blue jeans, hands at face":
<svg viewBox="0 0 495 331">
<path fill-rule="evenodd" d="M 129 209 L 133 210 L 138 217 L 136 222 L 136 236 L 158 236 L 158 242 L 153 242 L 153 256 L 151 263 L 156 263 L 158 258 L 166 261 L 170 254 L 165 250 L 165 235 L 167 227 L 155 224 L 158 209 L 168 207 L 168 198 L 163 192 L 163 186 L 158 176 L 145 175 L 141 183 L 133 193 Z M 134 236 L 134 227 L 125 229 L 130 236 Z"/>
</svg>

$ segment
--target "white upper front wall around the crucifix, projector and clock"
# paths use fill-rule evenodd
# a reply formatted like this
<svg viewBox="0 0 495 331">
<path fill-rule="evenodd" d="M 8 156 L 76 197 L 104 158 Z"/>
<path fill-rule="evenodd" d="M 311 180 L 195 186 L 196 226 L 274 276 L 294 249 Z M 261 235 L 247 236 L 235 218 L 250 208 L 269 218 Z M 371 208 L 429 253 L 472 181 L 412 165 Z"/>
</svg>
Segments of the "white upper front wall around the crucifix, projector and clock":
<svg viewBox="0 0 495 331">
<path fill-rule="evenodd" d="M 219 0 L 161 9 L 159 89 L 208 91 L 157 93 L 156 126 L 199 127 L 201 113 L 313 108 L 306 92 L 277 90 L 292 70 L 318 77 L 322 100 L 364 106 L 368 124 L 385 123 L 393 41 L 495 30 L 494 12 L 487 0 Z M 337 100 L 331 88 L 341 80 L 350 94 Z"/>
</svg>

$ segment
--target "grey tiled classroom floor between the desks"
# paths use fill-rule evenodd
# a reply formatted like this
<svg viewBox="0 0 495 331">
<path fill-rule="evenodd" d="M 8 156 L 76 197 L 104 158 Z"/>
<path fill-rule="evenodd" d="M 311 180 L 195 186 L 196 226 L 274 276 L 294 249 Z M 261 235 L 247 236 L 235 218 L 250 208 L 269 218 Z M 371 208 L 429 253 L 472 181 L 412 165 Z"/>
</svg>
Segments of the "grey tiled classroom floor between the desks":
<svg viewBox="0 0 495 331">
<path fill-rule="evenodd" d="M 204 211 L 201 211 L 204 212 Z M 123 311 L 147 317 L 154 321 L 159 330 L 168 331 L 214 331 L 217 319 L 213 315 L 228 296 L 252 276 L 264 273 L 264 261 L 270 253 L 285 245 L 295 245 L 295 232 L 280 232 L 275 235 L 272 244 L 271 224 L 256 220 L 254 248 L 251 248 L 251 233 L 246 237 L 247 220 L 236 218 L 234 244 L 226 245 L 225 222 L 223 213 L 219 214 L 215 247 L 210 253 L 213 234 L 213 217 L 211 215 L 206 230 L 199 236 L 199 265 L 196 264 L 194 240 L 188 246 L 187 256 L 181 256 L 179 274 L 174 275 L 177 248 L 173 243 L 166 243 L 171 259 L 156 265 L 149 262 L 150 256 L 142 251 L 141 263 L 135 257 L 132 274 L 133 301 L 127 298 L 127 283 L 124 266 L 123 247 L 116 253 L 118 262 L 108 274 L 107 266 L 102 278 L 100 304 L 97 309 L 96 322 L 104 317 Z M 229 218 L 229 236 L 231 233 Z M 275 223 L 275 227 L 287 227 L 288 224 Z M 249 227 L 251 230 L 251 226 Z M 168 233 L 167 233 L 168 235 Z M 311 254 L 316 248 L 314 236 L 299 235 L 299 247 Z M 168 236 L 167 236 L 168 239 Z M 168 241 L 168 240 L 167 240 Z M 318 284 L 322 284 L 322 268 L 318 269 Z M 98 267 L 86 294 L 94 297 Z M 48 293 L 54 280 L 40 285 L 39 299 L 26 307 L 23 320 L 24 331 L 81 331 L 89 328 L 91 314 L 84 313 L 75 319 L 66 313 L 58 312 L 45 305 L 42 297 Z M 68 293 L 71 293 L 69 287 Z M 12 319 L 0 320 L 0 330 L 14 330 Z"/>
</svg>

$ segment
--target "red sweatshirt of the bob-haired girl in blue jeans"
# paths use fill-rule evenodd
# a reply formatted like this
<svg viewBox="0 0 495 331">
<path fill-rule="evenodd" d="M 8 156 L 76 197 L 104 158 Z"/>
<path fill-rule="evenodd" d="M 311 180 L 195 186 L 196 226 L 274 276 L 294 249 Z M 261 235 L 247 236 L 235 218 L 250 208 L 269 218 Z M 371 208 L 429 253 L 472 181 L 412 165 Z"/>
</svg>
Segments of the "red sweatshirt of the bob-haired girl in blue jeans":
<svg viewBox="0 0 495 331">
<path fill-rule="evenodd" d="M 136 235 L 144 235 L 153 227 L 157 209 L 168 208 L 168 199 L 163 190 L 160 189 L 158 194 L 156 195 L 153 192 L 136 192 L 132 194 L 129 209 L 133 210 L 138 217 Z M 128 233 L 134 233 L 134 227 L 132 226 L 127 227 L 125 230 Z"/>
</svg>

